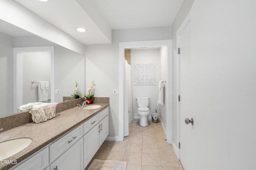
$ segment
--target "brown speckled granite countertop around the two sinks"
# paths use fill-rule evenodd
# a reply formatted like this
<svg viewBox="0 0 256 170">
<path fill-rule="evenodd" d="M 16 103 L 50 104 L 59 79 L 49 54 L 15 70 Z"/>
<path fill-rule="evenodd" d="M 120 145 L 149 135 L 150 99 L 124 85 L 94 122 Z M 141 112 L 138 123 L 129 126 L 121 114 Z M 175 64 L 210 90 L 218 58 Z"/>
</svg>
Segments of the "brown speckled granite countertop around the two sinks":
<svg viewBox="0 0 256 170">
<path fill-rule="evenodd" d="M 100 105 L 102 107 L 90 110 L 73 107 L 62 111 L 60 116 L 43 123 L 28 123 L 0 133 L 0 143 L 19 138 L 32 140 L 28 147 L 4 160 L 21 162 L 109 106 L 109 104 L 99 103 L 92 105 Z M 0 170 L 8 170 L 14 165 L 0 164 Z"/>
</svg>

